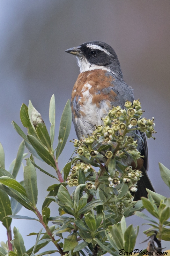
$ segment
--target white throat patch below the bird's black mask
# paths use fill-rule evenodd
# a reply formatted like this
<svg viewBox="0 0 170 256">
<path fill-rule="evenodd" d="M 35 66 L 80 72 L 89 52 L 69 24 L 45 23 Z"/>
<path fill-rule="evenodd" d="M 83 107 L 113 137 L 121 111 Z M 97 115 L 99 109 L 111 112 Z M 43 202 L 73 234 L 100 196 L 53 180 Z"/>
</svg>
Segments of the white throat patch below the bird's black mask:
<svg viewBox="0 0 170 256">
<path fill-rule="evenodd" d="M 86 58 L 82 58 L 79 56 L 76 56 L 78 60 L 78 67 L 80 68 L 80 73 L 83 73 L 85 71 L 91 71 L 94 69 L 103 69 L 111 72 L 110 68 L 106 68 L 104 66 L 90 64 L 90 62 Z"/>
</svg>

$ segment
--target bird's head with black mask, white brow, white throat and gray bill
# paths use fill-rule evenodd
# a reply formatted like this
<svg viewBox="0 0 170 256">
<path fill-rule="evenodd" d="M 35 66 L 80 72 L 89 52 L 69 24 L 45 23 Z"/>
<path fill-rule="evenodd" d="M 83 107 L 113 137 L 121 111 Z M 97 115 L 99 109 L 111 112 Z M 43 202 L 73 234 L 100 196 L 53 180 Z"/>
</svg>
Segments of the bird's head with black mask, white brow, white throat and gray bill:
<svg viewBox="0 0 170 256">
<path fill-rule="evenodd" d="M 104 69 L 122 77 L 122 71 L 113 48 L 103 42 L 92 41 L 73 47 L 65 52 L 76 55 L 80 72 Z"/>
</svg>

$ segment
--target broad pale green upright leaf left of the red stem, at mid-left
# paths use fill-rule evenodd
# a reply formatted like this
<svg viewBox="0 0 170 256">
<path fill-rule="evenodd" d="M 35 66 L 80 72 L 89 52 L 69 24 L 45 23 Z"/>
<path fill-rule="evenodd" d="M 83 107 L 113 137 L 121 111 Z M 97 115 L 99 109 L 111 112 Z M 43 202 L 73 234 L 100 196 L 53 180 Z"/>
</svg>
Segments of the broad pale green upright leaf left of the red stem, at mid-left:
<svg viewBox="0 0 170 256">
<path fill-rule="evenodd" d="M 29 158 L 27 158 L 26 164 L 27 165 L 24 168 L 24 184 L 26 188 L 26 194 L 33 206 L 36 206 L 38 196 L 37 174 L 35 167 Z"/>
</svg>

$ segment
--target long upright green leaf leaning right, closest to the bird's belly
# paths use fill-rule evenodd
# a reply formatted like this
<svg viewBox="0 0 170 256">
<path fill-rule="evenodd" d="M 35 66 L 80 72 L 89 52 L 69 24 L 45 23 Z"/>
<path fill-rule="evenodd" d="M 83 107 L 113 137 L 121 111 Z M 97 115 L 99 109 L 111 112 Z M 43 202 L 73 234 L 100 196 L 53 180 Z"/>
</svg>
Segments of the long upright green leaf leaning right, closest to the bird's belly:
<svg viewBox="0 0 170 256">
<path fill-rule="evenodd" d="M 58 157 L 63 151 L 63 148 L 69 137 L 70 129 L 71 129 L 71 108 L 70 108 L 70 100 L 68 100 L 63 110 L 63 114 L 61 116 L 60 129 L 59 129 L 59 135 L 58 135 L 58 145 L 56 150 L 56 160 L 58 160 Z"/>
</svg>

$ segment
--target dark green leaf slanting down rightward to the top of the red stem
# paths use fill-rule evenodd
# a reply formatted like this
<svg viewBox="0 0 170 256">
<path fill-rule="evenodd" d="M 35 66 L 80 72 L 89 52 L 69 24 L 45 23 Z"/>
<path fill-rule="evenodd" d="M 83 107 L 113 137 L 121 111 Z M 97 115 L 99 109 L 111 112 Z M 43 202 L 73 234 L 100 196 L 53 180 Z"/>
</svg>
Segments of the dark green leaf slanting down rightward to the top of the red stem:
<svg viewBox="0 0 170 256">
<path fill-rule="evenodd" d="M 47 164 L 51 165 L 56 170 L 56 165 L 53 157 L 50 153 L 45 149 L 41 143 L 35 139 L 32 135 L 27 135 L 27 138 L 33 148 L 36 150 L 37 154 L 46 162 Z"/>
</svg>

